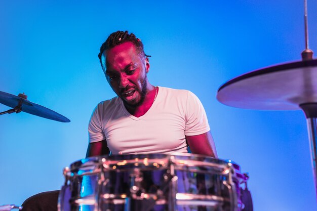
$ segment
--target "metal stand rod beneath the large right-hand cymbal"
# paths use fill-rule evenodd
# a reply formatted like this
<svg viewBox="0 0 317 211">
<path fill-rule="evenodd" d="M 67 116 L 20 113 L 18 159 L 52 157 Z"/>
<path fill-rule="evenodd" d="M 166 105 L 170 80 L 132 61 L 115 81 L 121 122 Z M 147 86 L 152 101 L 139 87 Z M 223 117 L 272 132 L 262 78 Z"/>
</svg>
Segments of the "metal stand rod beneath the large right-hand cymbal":
<svg viewBox="0 0 317 211">
<path fill-rule="evenodd" d="M 308 129 L 308 136 L 309 136 L 309 146 L 310 146 L 310 157 L 312 160 L 312 170 L 313 170 L 313 178 L 315 182 L 315 190 L 317 194 L 317 169 L 316 169 L 316 137 L 317 137 L 317 128 L 316 128 L 316 118 L 311 117 L 307 118 L 307 129 Z"/>
</svg>

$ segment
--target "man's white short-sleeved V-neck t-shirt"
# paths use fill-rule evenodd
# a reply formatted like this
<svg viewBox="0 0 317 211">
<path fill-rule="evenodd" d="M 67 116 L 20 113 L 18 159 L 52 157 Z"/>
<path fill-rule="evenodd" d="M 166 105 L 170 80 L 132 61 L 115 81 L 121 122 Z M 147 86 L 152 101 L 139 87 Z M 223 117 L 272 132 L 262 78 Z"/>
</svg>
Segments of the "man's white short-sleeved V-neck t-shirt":
<svg viewBox="0 0 317 211">
<path fill-rule="evenodd" d="M 187 152 L 186 136 L 210 131 L 200 100 L 190 91 L 159 87 L 150 109 L 131 115 L 119 97 L 103 101 L 89 121 L 89 142 L 107 141 L 113 154 Z"/>
</svg>

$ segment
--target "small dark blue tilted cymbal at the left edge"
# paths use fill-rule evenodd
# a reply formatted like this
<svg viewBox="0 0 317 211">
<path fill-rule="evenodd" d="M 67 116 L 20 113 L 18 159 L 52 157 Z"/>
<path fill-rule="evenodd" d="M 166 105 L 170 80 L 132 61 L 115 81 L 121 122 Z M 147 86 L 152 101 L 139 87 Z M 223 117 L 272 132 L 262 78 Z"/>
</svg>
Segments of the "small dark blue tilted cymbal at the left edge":
<svg viewBox="0 0 317 211">
<path fill-rule="evenodd" d="M 65 116 L 59 113 L 56 113 L 55 111 L 48 109 L 44 106 L 32 103 L 28 101 L 26 98 L 27 96 L 24 94 L 19 94 L 19 96 L 15 96 L 15 95 L 11 95 L 9 93 L 0 91 L 0 103 L 6 106 L 9 106 L 11 108 L 17 108 L 18 105 L 21 105 L 20 109 L 22 110 L 12 111 L 12 112 L 23 111 L 29 114 L 41 116 L 41 117 L 52 119 L 55 121 L 70 122 L 70 120 L 66 118 Z"/>
</svg>

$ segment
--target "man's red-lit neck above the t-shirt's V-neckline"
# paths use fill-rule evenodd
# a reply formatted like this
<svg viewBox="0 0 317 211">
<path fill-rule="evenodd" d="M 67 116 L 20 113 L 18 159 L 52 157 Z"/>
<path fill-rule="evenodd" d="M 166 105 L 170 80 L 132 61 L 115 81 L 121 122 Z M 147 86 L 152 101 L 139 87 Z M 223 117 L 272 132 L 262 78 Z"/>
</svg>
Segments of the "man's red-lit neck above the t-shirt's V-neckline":
<svg viewBox="0 0 317 211">
<path fill-rule="evenodd" d="M 155 93 L 157 93 L 155 89 L 157 88 L 151 86 L 150 90 L 148 90 L 143 102 L 140 105 L 130 106 L 130 105 L 124 104 L 127 111 L 135 117 L 143 116 L 150 109 L 150 107 L 152 106 L 154 102 Z"/>
</svg>

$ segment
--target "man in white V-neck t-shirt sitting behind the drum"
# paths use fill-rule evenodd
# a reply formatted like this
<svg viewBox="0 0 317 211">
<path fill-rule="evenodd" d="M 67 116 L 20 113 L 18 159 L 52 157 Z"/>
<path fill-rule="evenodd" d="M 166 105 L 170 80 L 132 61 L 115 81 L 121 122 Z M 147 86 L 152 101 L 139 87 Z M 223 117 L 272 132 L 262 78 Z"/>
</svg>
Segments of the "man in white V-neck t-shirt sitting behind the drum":
<svg viewBox="0 0 317 211">
<path fill-rule="evenodd" d="M 131 153 L 187 152 L 217 158 L 205 110 L 189 91 L 152 86 L 150 64 L 139 38 L 117 31 L 98 55 L 117 95 L 97 105 L 89 122 L 86 157 Z M 40 193 L 23 203 L 24 211 L 55 211 L 59 191 Z"/>
</svg>

